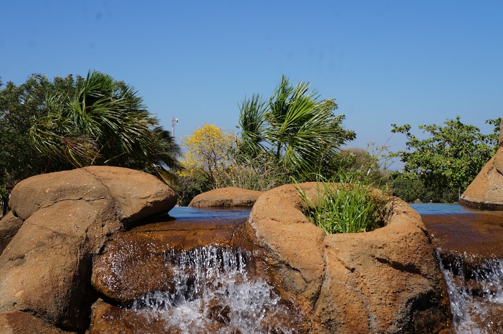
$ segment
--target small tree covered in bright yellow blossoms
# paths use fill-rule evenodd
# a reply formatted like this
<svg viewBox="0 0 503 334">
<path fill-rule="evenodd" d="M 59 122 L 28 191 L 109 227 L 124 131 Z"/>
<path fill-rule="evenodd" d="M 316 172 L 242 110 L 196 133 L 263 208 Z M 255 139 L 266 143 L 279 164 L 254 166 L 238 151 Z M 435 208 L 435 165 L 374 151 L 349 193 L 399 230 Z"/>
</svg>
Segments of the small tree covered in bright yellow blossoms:
<svg viewBox="0 0 503 334">
<path fill-rule="evenodd" d="M 235 142 L 232 131 L 205 123 L 182 139 L 187 149 L 181 161 L 183 170 L 179 172 L 182 178 L 205 175 L 213 189 L 219 188 L 226 178 L 231 164 L 229 150 Z"/>
</svg>

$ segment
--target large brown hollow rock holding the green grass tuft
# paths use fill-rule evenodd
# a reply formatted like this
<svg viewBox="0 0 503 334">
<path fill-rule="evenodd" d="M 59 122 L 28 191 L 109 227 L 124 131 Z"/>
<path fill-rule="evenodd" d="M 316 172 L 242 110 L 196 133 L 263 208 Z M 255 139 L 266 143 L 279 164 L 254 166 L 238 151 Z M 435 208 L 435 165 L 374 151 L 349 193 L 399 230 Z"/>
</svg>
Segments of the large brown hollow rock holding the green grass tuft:
<svg viewBox="0 0 503 334">
<path fill-rule="evenodd" d="M 301 184 L 317 194 L 316 183 Z M 316 197 L 316 196 L 314 196 Z M 286 290 L 320 333 L 449 332 L 447 290 L 418 215 L 398 198 L 384 227 L 325 235 L 302 213 L 296 186 L 265 192 L 249 222 Z"/>
</svg>

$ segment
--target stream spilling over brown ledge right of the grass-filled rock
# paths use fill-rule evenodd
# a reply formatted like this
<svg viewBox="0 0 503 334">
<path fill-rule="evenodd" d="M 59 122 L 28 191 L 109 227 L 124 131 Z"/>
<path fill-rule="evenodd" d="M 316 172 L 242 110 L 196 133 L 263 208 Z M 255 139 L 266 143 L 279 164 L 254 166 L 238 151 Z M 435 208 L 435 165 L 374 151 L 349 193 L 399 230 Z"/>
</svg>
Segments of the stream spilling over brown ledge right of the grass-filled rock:
<svg viewBox="0 0 503 334">
<path fill-rule="evenodd" d="M 411 206 L 436 244 L 456 333 L 503 333 L 503 219 L 459 205 Z"/>
</svg>

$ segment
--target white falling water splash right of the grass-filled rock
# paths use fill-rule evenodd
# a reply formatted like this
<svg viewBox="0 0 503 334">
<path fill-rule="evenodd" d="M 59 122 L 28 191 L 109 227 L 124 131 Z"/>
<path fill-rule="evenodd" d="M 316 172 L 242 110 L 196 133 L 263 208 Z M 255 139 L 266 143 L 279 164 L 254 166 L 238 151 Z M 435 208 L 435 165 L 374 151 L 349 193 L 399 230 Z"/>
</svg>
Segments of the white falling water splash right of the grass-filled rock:
<svg viewBox="0 0 503 334">
<path fill-rule="evenodd" d="M 483 259 L 469 269 L 465 259 L 470 257 L 459 254 L 446 263 L 437 249 L 455 330 L 459 334 L 503 333 L 503 259 Z"/>
</svg>

